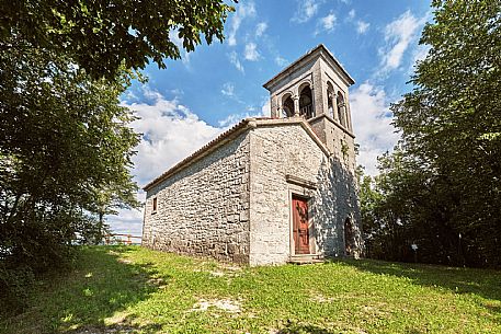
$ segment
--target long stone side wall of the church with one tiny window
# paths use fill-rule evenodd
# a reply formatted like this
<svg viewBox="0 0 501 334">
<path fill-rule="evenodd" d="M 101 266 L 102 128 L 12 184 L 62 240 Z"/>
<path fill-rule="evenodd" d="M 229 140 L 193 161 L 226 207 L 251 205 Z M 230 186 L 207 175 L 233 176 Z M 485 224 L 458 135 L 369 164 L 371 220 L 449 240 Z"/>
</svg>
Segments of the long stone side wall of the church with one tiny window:
<svg viewBox="0 0 501 334">
<path fill-rule="evenodd" d="M 143 245 L 249 263 L 249 148 L 246 131 L 149 189 Z"/>
</svg>

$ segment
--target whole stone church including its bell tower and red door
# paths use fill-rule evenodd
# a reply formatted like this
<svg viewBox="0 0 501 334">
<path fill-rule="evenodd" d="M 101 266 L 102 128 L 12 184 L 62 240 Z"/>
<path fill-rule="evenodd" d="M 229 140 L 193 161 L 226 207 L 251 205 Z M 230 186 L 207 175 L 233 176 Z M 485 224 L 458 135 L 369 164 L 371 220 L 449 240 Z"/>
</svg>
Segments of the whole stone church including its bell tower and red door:
<svg viewBox="0 0 501 334">
<path fill-rule="evenodd" d="M 241 120 L 144 187 L 143 245 L 250 265 L 358 256 L 353 83 L 323 45 L 264 83 L 271 117 Z"/>
</svg>

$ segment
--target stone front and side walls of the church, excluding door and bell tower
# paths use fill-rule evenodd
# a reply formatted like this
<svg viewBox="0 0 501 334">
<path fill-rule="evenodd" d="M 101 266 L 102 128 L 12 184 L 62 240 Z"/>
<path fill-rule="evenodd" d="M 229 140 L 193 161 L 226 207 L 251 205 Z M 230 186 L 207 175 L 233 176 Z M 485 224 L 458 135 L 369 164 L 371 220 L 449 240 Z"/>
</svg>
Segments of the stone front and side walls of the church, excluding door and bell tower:
<svg viewBox="0 0 501 334">
<path fill-rule="evenodd" d="M 344 254 L 346 218 L 360 246 L 353 174 L 304 126 L 258 122 L 150 188 L 143 244 L 251 265 L 283 264 L 294 255 L 291 203 L 297 194 L 309 198 L 311 254 Z"/>
</svg>

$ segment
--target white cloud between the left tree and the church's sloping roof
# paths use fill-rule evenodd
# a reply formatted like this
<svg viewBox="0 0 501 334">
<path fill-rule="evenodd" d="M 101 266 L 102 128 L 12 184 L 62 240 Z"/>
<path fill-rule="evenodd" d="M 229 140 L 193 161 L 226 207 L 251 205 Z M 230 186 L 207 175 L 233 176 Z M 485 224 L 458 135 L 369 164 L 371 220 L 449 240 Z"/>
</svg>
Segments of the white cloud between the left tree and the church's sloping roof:
<svg viewBox="0 0 501 334">
<path fill-rule="evenodd" d="M 167 100 L 149 89 L 144 89 L 141 93 L 143 100 L 151 100 L 151 103 L 122 102 L 139 117 L 132 123 L 134 130 L 143 134 L 133 159 L 133 174 L 139 186 L 146 185 L 226 129 L 206 124 L 178 99 Z M 145 200 L 144 192 L 137 196 L 139 200 Z M 140 235 L 143 211 L 118 210 L 117 216 L 107 217 L 107 222 L 114 232 Z"/>
</svg>

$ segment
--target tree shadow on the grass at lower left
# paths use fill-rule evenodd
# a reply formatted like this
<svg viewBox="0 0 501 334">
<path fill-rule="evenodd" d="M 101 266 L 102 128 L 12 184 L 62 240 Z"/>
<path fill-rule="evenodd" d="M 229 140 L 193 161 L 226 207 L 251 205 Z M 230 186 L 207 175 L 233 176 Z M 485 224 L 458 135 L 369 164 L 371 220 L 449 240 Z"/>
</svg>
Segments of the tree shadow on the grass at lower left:
<svg viewBox="0 0 501 334">
<path fill-rule="evenodd" d="M 123 260 L 127 246 L 82 247 L 75 269 L 43 279 L 30 308 L 4 326 L 5 333 L 153 333 L 153 325 L 128 321 L 127 308 L 149 298 L 170 277 L 150 264 Z"/>
</svg>

